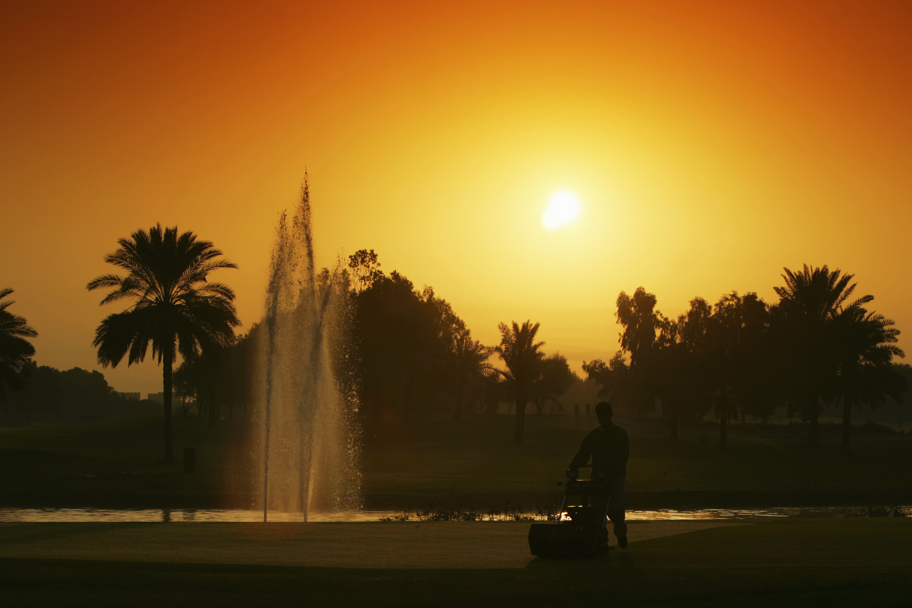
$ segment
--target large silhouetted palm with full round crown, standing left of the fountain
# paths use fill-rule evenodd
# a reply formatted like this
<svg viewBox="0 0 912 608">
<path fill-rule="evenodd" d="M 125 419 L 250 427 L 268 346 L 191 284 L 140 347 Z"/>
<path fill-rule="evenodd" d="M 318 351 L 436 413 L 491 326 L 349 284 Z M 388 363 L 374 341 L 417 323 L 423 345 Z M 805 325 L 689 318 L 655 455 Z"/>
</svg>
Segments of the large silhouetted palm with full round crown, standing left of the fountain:
<svg viewBox="0 0 912 608">
<path fill-rule="evenodd" d="M 233 327 L 241 325 L 234 310 L 234 293 L 224 283 L 210 283 L 209 273 L 220 268 L 237 268 L 212 246 L 199 241 L 192 232 L 178 234 L 177 227 L 133 232 L 119 239 L 116 252 L 105 262 L 127 272 L 105 274 L 90 281 L 89 291 L 110 288 L 101 300 L 109 304 L 130 300 L 122 313 L 110 314 L 98 325 L 93 346 L 98 363 L 117 366 L 124 356 L 127 365 L 140 363 L 149 344 L 152 356 L 163 364 L 165 455 L 173 459 L 171 439 L 171 373 L 178 352 L 184 359 L 198 356 L 202 349 L 229 345 Z"/>
</svg>

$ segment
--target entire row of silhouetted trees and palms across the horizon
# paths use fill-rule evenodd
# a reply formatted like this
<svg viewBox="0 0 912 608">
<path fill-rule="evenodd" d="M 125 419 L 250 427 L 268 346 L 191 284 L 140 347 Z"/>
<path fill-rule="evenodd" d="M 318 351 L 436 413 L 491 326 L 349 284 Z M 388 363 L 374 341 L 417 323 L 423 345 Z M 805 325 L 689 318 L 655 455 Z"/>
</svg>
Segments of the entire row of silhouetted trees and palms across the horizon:
<svg viewBox="0 0 912 608">
<path fill-rule="evenodd" d="M 234 294 L 208 280 L 212 271 L 236 266 L 211 242 L 161 226 L 120 239 L 105 260 L 126 273 L 100 276 L 88 289 L 110 290 L 102 304 L 131 304 L 98 326 L 98 361 L 138 363 L 152 346 L 164 367 L 165 459 L 171 459 L 172 386 L 184 415 L 248 418 L 263 325 L 235 337 Z M 331 286 L 332 277 L 341 277 L 342 285 Z M 677 318 L 661 314 L 656 296 L 642 287 L 622 292 L 616 315 L 621 350 L 607 362 L 585 363 L 586 375 L 617 406 L 640 414 L 660 408 L 672 439 L 679 421 L 714 414 L 722 447 L 732 417 L 765 423 L 778 407 L 802 417 L 817 443 L 821 412 L 838 406 L 848 453 L 853 410 L 899 402 L 907 389 L 910 368 L 894 363 L 905 356 L 896 345 L 899 330 L 868 309 L 874 296 L 851 299 L 851 274 L 805 265 L 797 273 L 784 269 L 782 279 L 773 304 L 754 293 L 724 294 L 715 304 L 697 297 Z M 522 441 L 528 405 L 537 414 L 549 403 L 560 408 L 558 399 L 578 381 L 564 356 L 545 356 L 544 343 L 536 341 L 538 324 L 502 323 L 499 344 L 482 345 L 430 287 L 418 290 L 402 274 L 381 271 L 373 250 L 355 252 L 347 267 L 324 269 L 317 280 L 321 290 L 341 288 L 346 300 L 346 335 L 337 336 L 331 350 L 340 388 L 357 386 L 359 415 L 368 426 L 441 411 L 457 418 L 493 413 L 508 402 L 515 407 L 515 440 Z M 36 366 L 28 341 L 36 331 L 8 310 L 11 293 L 0 291 L 5 413 L 78 421 L 136 408 L 98 372 Z M 172 378 L 178 354 L 182 363 Z M 495 354 L 503 366 L 492 365 Z"/>
</svg>

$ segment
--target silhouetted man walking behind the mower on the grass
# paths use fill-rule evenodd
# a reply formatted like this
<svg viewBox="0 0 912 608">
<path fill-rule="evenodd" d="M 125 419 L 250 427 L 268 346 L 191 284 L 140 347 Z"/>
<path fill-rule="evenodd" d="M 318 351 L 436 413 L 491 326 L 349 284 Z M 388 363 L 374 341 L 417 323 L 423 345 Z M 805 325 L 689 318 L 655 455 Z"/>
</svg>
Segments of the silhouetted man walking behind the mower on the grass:
<svg viewBox="0 0 912 608">
<path fill-rule="evenodd" d="M 605 483 L 608 519 L 614 525 L 617 544 L 624 549 L 627 547 L 627 522 L 624 520 L 627 492 L 624 480 L 627 478 L 627 459 L 630 458 L 630 439 L 627 438 L 626 430 L 611 421 L 613 414 L 611 404 L 607 401 L 596 405 L 596 417 L 600 426 L 589 431 L 583 439 L 583 444 L 568 469 L 577 471 L 592 457 L 591 479 Z M 593 506 L 596 510 L 600 506 L 601 512 L 605 512 L 604 502 Z"/>
</svg>

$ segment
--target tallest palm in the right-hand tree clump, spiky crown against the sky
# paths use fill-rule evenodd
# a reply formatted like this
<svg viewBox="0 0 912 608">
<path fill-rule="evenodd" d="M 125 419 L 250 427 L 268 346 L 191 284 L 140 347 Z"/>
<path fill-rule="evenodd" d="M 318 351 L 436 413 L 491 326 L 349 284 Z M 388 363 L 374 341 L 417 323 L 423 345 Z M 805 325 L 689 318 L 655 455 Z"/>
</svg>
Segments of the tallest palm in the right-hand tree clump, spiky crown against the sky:
<svg viewBox="0 0 912 608">
<path fill-rule="evenodd" d="M 789 392 L 810 421 L 810 440 L 815 444 L 819 440 L 820 399 L 830 392 L 837 373 L 834 320 L 844 308 L 867 304 L 874 296 L 864 295 L 846 306 L 855 292 L 856 283 L 851 283 L 854 275 L 838 269 L 830 272 L 825 265 L 811 268 L 804 264 L 799 273 L 783 270 L 785 285 L 774 288 L 780 301 L 771 312 L 782 332 L 783 371 L 789 376 Z"/>
</svg>

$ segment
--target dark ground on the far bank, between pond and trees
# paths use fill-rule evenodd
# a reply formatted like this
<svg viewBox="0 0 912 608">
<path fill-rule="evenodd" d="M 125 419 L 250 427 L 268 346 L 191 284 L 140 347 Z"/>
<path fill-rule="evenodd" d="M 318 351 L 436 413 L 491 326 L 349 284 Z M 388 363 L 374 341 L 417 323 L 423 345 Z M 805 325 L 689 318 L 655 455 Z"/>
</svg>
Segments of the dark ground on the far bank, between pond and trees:
<svg viewBox="0 0 912 608">
<path fill-rule="evenodd" d="M 855 430 L 839 456 L 838 428 L 809 447 L 800 426 L 734 425 L 730 448 L 710 425 L 668 441 L 660 421 L 620 418 L 631 438 L 629 509 L 750 509 L 912 504 L 912 436 Z M 362 451 L 370 510 L 534 509 L 560 498 L 556 481 L 594 419 L 530 416 L 522 445 L 512 417 L 440 418 L 369 436 Z M 0 506 L 140 509 L 252 508 L 259 470 L 245 463 L 247 429 L 174 420 L 175 454 L 161 459 L 162 418 L 66 427 L 0 428 Z M 182 448 L 197 470 L 181 472 Z M 245 469 L 247 467 L 247 469 Z"/>
</svg>

